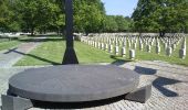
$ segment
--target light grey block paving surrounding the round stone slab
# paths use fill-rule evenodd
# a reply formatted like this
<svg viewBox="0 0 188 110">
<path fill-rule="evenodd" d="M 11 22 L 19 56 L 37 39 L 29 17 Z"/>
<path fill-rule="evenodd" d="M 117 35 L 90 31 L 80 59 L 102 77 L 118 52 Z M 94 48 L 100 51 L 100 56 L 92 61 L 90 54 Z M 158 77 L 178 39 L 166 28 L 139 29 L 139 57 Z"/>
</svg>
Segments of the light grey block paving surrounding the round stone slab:
<svg viewBox="0 0 188 110">
<path fill-rule="evenodd" d="M 153 84 L 152 98 L 146 103 L 122 99 L 109 105 L 81 110 L 188 110 L 188 67 L 164 62 L 117 63 L 114 65 L 130 68 L 140 74 L 140 87 Z M 8 79 L 12 75 L 27 68 L 0 68 L 0 94 L 6 94 Z"/>
</svg>

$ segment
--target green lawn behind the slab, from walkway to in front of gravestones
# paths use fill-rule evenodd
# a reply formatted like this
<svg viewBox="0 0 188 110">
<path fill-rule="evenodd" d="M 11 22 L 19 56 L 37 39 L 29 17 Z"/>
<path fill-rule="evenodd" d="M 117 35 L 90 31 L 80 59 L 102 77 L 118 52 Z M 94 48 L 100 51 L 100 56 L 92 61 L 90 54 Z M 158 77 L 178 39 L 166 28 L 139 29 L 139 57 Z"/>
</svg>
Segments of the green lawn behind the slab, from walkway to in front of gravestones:
<svg viewBox="0 0 188 110">
<path fill-rule="evenodd" d="M 188 38 L 187 38 L 188 42 Z M 155 44 L 154 44 L 155 45 Z M 146 52 L 146 47 L 144 51 L 139 51 L 139 45 L 137 45 L 136 50 L 136 61 L 164 61 L 171 64 L 179 64 L 188 66 L 188 55 L 185 59 L 179 58 L 179 48 L 181 43 L 177 46 L 177 48 L 173 52 L 173 55 L 169 57 L 165 54 L 165 50 L 163 48 L 163 44 L 160 43 L 161 52 L 160 54 L 156 54 L 156 47 L 152 47 L 152 52 Z M 187 43 L 188 48 L 188 43 Z M 19 61 L 17 66 L 34 66 L 34 65 L 59 65 L 62 62 L 65 50 L 65 42 L 60 40 L 52 40 L 44 42 L 41 46 L 33 50 L 31 53 L 25 55 L 21 61 Z M 126 57 L 112 57 L 105 51 L 101 51 L 98 48 L 88 46 L 81 42 L 75 42 L 75 52 L 81 64 L 90 64 L 90 63 L 115 63 L 117 61 L 129 61 L 129 51 L 127 50 Z M 188 53 L 188 50 L 187 50 Z"/>
</svg>

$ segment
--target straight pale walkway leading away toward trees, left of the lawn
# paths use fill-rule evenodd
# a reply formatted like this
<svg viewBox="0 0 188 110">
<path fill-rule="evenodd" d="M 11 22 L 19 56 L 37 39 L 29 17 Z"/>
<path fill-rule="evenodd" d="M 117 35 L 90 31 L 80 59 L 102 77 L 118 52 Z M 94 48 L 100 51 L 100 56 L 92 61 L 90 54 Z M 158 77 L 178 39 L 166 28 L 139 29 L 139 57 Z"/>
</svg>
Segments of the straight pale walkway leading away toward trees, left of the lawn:
<svg viewBox="0 0 188 110">
<path fill-rule="evenodd" d="M 34 37 L 32 42 L 22 43 L 18 47 L 0 52 L 0 68 L 9 68 L 21 59 L 24 54 L 35 48 L 45 37 Z"/>
</svg>

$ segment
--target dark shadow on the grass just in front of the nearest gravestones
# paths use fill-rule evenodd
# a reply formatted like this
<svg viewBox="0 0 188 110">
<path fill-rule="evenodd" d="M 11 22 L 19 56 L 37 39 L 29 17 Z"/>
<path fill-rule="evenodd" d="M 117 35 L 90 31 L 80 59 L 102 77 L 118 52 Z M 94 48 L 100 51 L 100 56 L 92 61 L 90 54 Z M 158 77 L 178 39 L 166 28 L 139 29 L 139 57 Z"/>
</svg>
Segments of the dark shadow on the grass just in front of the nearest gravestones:
<svg viewBox="0 0 188 110">
<path fill-rule="evenodd" d="M 113 63 L 111 63 L 111 64 L 116 65 L 116 66 L 121 66 L 121 65 L 124 65 L 125 63 L 132 62 L 132 61 L 128 61 L 128 59 L 119 59 L 119 58 L 117 58 L 117 56 L 114 56 L 114 55 L 111 55 L 109 57 L 113 58 L 113 59 L 115 59 L 115 61 L 114 61 Z"/>
</svg>

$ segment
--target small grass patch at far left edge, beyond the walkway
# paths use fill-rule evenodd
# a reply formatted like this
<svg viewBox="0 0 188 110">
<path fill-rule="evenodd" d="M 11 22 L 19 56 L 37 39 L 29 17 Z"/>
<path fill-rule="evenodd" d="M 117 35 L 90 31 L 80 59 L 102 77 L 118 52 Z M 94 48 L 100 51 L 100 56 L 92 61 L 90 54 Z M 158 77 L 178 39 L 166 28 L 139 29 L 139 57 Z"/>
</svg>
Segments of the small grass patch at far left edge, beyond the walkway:
<svg viewBox="0 0 188 110">
<path fill-rule="evenodd" d="M 17 40 L 0 42 L 0 51 L 9 50 L 9 48 L 14 47 L 14 46 L 17 46 L 19 44 L 20 44 L 20 42 L 17 41 Z"/>
</svg>

